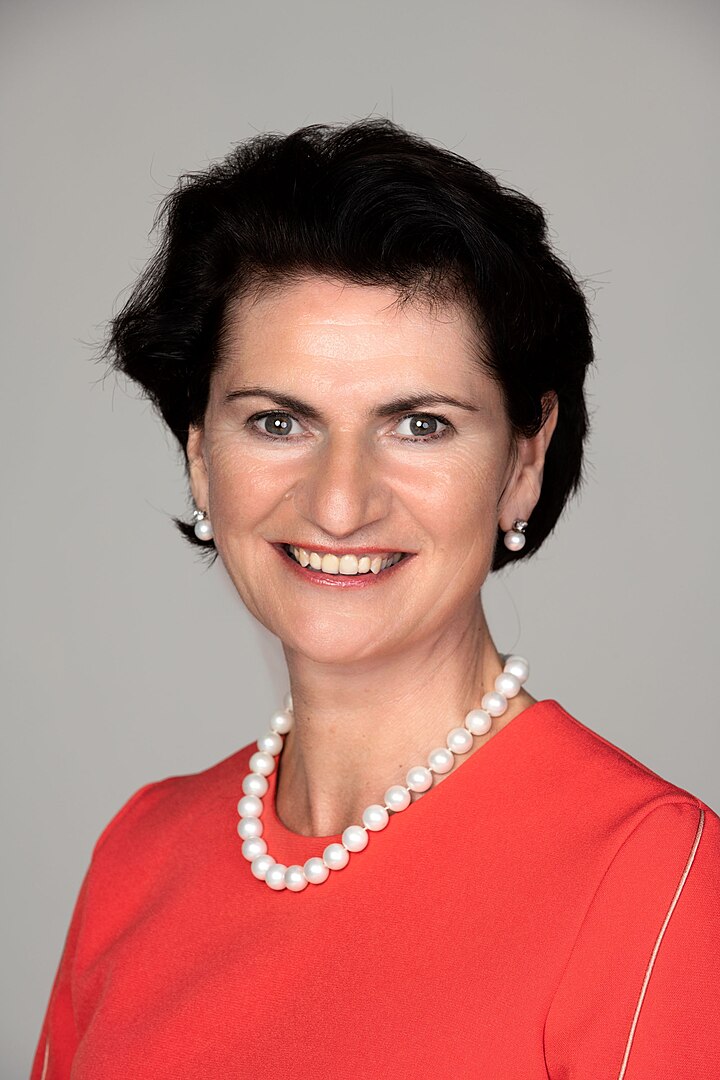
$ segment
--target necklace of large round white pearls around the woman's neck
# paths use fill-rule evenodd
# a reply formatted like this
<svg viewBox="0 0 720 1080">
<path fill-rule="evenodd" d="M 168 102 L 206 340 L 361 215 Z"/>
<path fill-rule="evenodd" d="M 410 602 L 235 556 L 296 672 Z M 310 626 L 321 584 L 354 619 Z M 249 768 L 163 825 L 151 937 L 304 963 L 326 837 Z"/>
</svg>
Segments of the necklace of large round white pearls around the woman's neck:
<svg viewBox="0 0 720 1080">
<path fill-rule="evenodd" d="M 472 708 L 461 728 L 451 728 L 447 735 L 447 747 L 438 746 L 427 756 L 427 766 L 416 765 L 405 778 L 405 786 L 394 784 L 384 795 L 384 804 L 373 802 L 363 811 L 362 825 L 349 825 L 340 843 L 329 843 L 322 856 L 309 859 L 303 866 L 286 866 L 276 862 L 268 853 L 268 845 L 262 839 L 262 797 L 268 792 L 268 777 L 275 769 L 275 758 L 283 748 L 283 737 L 294 724 L 293 697 L 286 694 L 284 708 L 273 713 L 270 730 L 257 741 L 257 751 L 250 756 L 250 771 L 243 780 L 244 795 L 237 804 L 240 821 L 237 834 L 243 841 L 243 855 L 250 864 L 250 870 L 271 889 L 289 889 L 301 892 L 308 885 L 321 885 L 330 870 L 340 870 L 350 862 L 352 852 L 362 851 L 368 845 L 368 831 L 377 833 L 390 821 L 389 811 L 398 813 L 410 806 L 410 792 L 426 792 L 433 784 L 433 773 L 449 772 L 457 755 L 466 754 L 473 745 L 474 735 L 484 735 L 492 727 L 492 719 L 502 716 L 507 703 L 520 691 L 530 669 L 524 657 L 504 658 L 502 674 L 495 679 L 494 690 L 489 690 L 480 703 L 480 708 Z"/>
</svg>

